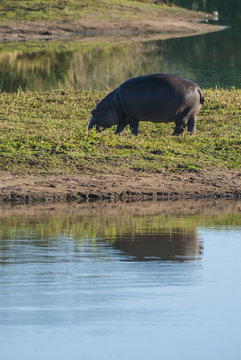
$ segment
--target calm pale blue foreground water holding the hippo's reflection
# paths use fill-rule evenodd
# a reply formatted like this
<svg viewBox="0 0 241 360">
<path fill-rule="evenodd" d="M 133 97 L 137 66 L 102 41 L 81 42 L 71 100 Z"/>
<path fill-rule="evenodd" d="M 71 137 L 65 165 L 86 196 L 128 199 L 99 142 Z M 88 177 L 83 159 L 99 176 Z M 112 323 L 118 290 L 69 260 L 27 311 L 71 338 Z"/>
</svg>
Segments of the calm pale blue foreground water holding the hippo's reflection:
<svg viewBox="0 0 241 360">
<path fill-rule="evenodd" d="M 241 358 L 241 203 L 0 212 L 0 351 Z"/>
</svg>

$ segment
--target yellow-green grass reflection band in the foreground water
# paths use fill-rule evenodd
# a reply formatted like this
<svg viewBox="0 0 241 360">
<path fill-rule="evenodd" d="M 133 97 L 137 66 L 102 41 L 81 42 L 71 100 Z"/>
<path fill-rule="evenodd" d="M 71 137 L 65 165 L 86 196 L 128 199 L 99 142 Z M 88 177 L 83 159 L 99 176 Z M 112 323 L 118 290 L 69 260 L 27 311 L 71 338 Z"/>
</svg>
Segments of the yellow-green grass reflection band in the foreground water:
<svg viewBox="0 0 241 360">
<path fill-rule="evenodd" d="M 171 234 L 178 231 L 188 234 L 197 227 L 212 226 L 241 226 L 240 214 L 229 215 L 140 215 L 140 216 L 34 216 L 12 217 L 0 219 L 0 237 L 21 239 L 29 236 L 29 229 L 33 230 L 34 238 L 47 240 L 52 237 L 82 239 L 108 238 L 114 241 L 117 235 L 128 234 L 128 237 L 151 233 Z"/>
</svg>

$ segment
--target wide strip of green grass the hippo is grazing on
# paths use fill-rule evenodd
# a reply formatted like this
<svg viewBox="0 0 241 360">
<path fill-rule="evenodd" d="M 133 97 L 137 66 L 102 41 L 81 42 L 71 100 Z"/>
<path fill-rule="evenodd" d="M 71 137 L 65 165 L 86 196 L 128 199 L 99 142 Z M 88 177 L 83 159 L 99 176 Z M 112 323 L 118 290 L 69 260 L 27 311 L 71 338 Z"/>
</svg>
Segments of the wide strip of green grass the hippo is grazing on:
<svg viewBox="0 0 241 360">
<path fill-rule="evenodd" d="M 140 123 L 136 137 L 114 127 L 87 131 L 107 92 L 0 94 L 0 170 L 17 173 L 149 173 L 241 167 L 241 90 L 206 90 L 197 135 L 173 137 L 173 123 Z"/>
</svg>

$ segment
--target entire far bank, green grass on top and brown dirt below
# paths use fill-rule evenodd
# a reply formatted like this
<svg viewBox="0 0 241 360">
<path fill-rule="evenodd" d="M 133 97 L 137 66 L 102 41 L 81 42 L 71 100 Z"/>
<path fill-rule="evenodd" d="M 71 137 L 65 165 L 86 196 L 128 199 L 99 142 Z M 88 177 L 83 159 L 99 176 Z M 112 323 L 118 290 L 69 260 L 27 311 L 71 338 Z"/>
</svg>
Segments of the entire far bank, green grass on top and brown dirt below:
<svg viewBox="0 0 241 360">
<path fill-rule="evenodd" d="M 149 0 L 4 0 L 0 2 L 0 42 L 83 34 L 89 38 L 98 35 L 99 41 L 106 41 L 107 35 L 114 41 L 130 37 L 164 39 L 222 29 L 197 22 L 206 16 Z"/>
</svg>

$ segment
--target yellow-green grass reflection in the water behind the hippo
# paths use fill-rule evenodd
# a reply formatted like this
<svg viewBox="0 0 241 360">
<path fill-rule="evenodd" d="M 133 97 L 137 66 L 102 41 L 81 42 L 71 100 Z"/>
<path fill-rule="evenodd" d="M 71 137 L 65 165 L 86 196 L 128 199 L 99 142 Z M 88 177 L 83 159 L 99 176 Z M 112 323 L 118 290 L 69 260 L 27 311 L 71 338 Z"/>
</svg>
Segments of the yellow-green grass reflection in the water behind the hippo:
<svg viewBox="0 0 241 360">
<path fill-rule="evenodd" d="M 130 74 L 148 72 L 148 69 L 143 69 L 143 60 L 156 47 L 154 43 L 149 43 L 147 54 L 142 43 L 134 42 L 37 44 L 25 50 L 21 50 L 20 46 L 18 51 L 9 45 L 7 48 L 0 46 L 2 90 L 17 91 L 19 84 L 22 89 L 29 90 L 76 86 L 103 89 L 121 83 Z M 156 67 L 159 61 L 160 56 L 156 56 Z"/>
</svg>

